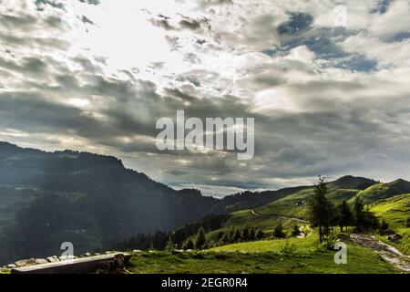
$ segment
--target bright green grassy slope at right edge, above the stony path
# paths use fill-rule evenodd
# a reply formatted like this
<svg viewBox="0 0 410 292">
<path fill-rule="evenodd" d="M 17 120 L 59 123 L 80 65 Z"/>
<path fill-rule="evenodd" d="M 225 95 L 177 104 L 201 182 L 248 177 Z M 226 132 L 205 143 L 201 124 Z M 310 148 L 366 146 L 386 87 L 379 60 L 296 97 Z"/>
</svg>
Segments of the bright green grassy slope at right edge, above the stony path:
<svg viewBox="0 0 410 292">
<path fill-rule="evenodd" d="M 405 227 L 405 220 L 410 216 L 410 193 L 395 195 L 391 198 L 377 201 L 370 210 L 384 218 L 397 232 L 403 236 L 400 244 L 395 245 L 406 255 L 410 255 L 410 228 Z M 385 241 L 385 238 L 381 238 Z"/>
</svg>

